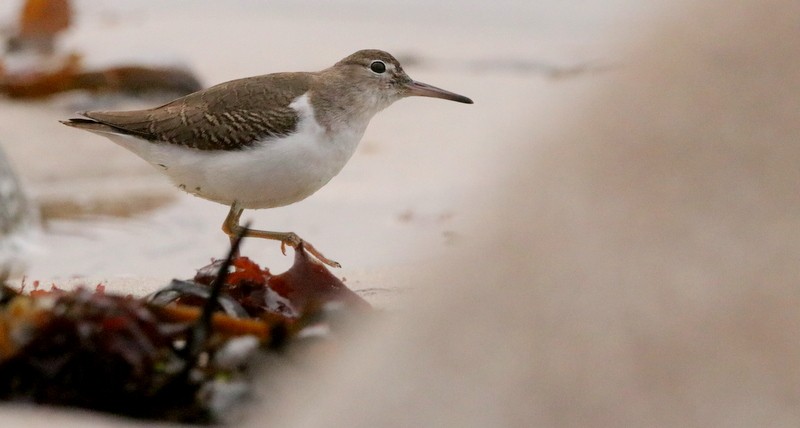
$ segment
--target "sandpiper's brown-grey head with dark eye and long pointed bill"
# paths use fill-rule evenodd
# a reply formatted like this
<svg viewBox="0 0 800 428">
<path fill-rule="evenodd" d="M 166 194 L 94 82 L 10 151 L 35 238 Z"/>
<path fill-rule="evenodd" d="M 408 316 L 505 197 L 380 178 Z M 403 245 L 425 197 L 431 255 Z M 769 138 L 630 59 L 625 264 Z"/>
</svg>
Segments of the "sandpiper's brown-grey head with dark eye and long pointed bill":
<svg viewBox="0 0 800 428">
<path fill-rule="evenodd" d="M 334 67 L 346 68 L 348 74 L 358 77 L 363 87 L 374 88 L 389 103 L 405 97 L 419 96 L 472 104 L 472 100 L 463 95 L 414 81 L 403 71 L 395 57 L 381 50 L 358 51 L 339 61 Z"/>
</svg>

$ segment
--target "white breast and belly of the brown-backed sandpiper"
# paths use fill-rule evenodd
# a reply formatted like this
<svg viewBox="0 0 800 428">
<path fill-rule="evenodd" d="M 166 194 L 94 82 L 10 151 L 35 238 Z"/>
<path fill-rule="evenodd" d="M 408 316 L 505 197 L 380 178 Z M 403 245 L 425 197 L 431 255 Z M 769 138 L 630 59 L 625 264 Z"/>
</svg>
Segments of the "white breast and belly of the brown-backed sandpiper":
<svg viewBox="0 0 800 428">
<path fill-rule="evenodd" d="M 355 152 L 368 119 L 328 132 L 314 118 L 308 94 L 290 105 L 297 131 L 234 152 L 204 151 L 103 134 L 167 174 L 179 188 L 222 204 L 273 208 L 310 196 L 328 183 Z"/>
</svg>

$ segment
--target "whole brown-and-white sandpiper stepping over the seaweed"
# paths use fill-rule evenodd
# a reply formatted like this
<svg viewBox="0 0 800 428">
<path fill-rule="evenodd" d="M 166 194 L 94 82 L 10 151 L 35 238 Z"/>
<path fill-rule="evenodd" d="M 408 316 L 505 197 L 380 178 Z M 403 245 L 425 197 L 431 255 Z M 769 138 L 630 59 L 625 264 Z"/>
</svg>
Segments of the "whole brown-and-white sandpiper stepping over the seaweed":
<svg viewBox="0 0 800 428">
<path fill-rule="evenodd" d="M 236 236 L 244 209 L 274 208 L 310 196 L 353 155 L 370 119 L 409 97 L 472 100 L 412 80 L 380 50 L 361 50 L 317 72 L 232 80 L 146 110 L 81 113 L 62 123 L 108 137 L 181 190 L 231 207 L 222 230 Z M 293 232 L 246 236 L 303 247 L 339 267 Z"/>
</svg>

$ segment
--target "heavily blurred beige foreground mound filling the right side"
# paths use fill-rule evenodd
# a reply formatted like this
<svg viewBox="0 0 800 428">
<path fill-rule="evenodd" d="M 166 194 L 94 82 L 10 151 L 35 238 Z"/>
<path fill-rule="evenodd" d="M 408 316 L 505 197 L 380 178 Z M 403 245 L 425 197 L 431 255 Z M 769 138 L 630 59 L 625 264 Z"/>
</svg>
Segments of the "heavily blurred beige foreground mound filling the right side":
<svg viewBox="0 0 800 428">
<path fill-rule="evenodd" d="M 797 426 L 800 5 L 671 3 L 517 125 L 413 306 L 283 362 L 245 425 Z"/>
</svg>

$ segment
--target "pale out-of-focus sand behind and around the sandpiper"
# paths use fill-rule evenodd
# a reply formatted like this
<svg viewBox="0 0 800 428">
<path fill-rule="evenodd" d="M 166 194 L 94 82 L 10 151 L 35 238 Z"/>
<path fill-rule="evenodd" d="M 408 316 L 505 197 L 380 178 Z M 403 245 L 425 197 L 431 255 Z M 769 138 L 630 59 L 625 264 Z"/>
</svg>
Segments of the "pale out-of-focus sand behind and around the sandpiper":
<svg viewBox="0 0 800 428">
<path fill-rule="evenodd" d="M 31 3 L 35 12 L 48 2 Z M 60 26 L 57 18 L 41 19 L 55 36 L 52 50 L 39 56 L 9 48 L 22 32 L 25 2 L 0 4 L 7 80 L 69 65 L 100 73 L 139 66 L 177 69 L 205 87 L 318 70 L 358 49 L 380 48 L 413 78 L 472 97 L 467 108 L 430 99 L 397 103 L 373 120 L 350 164 L 320 192 L 245 213 L 254 227 L 314 242 L 343 264 L 343 275 L 375 281 L 458 245 L 469 233 L 465 218 L 485 203 L 474 189 L 492 187 L 478 171 L 502 170 L 493 159 L 508 150 L 512 130 L 524 123 L 537 132 L 537 112 L 614 67 L 620 58 L 608 46 L 616 29 L 636 25 L 643 8 L 629 0 L 54 3 L 66 4 L 69 19 Z M 175 85 L 157 83 L 162 92 L 110 83 L 0 96 L 0 147 L 42 213 L 43 233 L 17 275 L 186 276 L 225 251 L 219 229 L 227 207 L 184 194 L 110 141 L 58 123 L 81 110 L 143 108 L 176 96 Z M 275 270 L 290 264 L 274 242 L 245 247 Z"/>
</svg>

